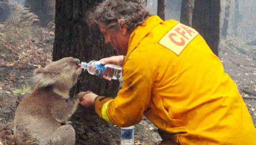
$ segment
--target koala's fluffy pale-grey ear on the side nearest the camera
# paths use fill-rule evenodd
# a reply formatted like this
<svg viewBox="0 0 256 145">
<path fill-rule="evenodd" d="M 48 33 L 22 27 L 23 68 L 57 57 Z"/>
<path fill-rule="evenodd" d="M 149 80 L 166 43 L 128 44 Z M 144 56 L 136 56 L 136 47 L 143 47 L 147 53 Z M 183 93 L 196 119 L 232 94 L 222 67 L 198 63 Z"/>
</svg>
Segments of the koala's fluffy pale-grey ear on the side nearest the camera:
<svg viewBox="0 0 256 145">
<path fill-rule="evenodd" d="M 34 70 L 34 83 L 38 84 L 37 87 L 46 87 L 55 83 L 55 80 L 52 79 L 49 75 L 49 72 L 44 68 L 38 68 Z"/>
</svg>

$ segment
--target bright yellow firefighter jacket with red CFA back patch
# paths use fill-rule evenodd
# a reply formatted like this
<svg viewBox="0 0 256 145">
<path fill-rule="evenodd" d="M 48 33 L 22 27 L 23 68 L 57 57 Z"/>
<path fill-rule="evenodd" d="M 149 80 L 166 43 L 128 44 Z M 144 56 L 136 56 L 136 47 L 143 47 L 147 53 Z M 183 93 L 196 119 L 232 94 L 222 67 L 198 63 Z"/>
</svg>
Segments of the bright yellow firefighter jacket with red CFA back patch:
<svg viewBox="0 0 256 145">
<path fill-rule="evenodd" d="M 256 131 L 236 84 L 201 35 L 151 16 L 129 38 L 123 86 L 98 97 L 99 116 L 131 126 L 143 114 L 181 145 L 256 145 Z"/>
</svg>

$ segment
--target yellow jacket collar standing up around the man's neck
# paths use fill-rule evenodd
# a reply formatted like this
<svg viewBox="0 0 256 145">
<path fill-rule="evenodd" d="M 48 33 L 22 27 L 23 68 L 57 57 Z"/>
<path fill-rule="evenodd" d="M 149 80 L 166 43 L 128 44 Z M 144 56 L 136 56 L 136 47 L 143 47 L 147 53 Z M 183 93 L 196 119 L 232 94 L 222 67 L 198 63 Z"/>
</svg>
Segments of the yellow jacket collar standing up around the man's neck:
<svg viewBox="0 0 256 145">
<path fill-rule="evenodd" d="M 128 58 L 129 54 L 136 48 L 140 41 L 159 23 L 163 20 L 157 16 L 150 16 L 141 25 L 137 26 L 131 33 L 128 42 L 128 50 L 125 58 Z M 126 60 L 125 60 L 126 61 Z"/>
</svg>

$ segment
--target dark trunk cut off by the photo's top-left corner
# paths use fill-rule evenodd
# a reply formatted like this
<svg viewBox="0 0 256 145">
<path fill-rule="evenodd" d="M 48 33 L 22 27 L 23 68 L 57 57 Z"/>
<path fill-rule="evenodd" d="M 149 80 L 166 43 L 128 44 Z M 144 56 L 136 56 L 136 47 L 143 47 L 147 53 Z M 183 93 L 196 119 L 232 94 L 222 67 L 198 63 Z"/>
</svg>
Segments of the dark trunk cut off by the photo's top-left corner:
<svg viewBox="0 0 256 145">
<path fill-rule="evenodd" d="M 4 22 L 11 15 L 8 0 L 0 0 L 0 23 Z"/>
</svg>

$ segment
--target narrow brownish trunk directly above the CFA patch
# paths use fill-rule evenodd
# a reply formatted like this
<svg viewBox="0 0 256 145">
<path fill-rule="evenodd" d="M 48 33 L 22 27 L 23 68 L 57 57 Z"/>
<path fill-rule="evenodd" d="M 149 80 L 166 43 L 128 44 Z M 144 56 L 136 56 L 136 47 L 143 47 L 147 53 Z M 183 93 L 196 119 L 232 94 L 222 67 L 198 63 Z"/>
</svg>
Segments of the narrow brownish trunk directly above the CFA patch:
<svg viewBox="0 0 256 145">
<path fill-rule="evenodd" d="M 180 22 L 187 26 L 191 26 L 192 14 L 193 14 L 192 0 L 182 0 Z"/>
</svg>

